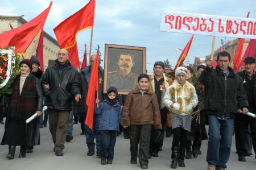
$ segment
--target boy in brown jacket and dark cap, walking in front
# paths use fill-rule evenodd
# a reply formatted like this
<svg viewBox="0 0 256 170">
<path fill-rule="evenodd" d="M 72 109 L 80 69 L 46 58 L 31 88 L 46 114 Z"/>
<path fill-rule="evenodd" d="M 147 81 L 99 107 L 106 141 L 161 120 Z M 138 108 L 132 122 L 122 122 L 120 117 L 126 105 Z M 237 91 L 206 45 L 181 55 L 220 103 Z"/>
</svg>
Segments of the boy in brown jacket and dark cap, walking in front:
<svg viewBox="0 0 256 170">
<path fill-rule="evenodd" d="M 137 164 L 139 144 L 139 164 L 148 167 L 151 126 L 162 129 L 158 99 L 152 91 L 150 78 L 140 74 L 138 87 L 127 96 L 122 113 L 122 126 L 130 126 L 131 164 Z"/>
</svg>

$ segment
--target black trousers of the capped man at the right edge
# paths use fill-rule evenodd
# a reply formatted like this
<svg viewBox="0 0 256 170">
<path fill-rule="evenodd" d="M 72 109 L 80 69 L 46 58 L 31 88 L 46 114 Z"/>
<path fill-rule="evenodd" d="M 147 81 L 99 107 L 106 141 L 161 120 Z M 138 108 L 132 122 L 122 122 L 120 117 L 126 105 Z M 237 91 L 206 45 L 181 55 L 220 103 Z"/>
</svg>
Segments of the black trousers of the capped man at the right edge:
<svg viewBox="0 0 256 170">
<path fill-rule="evenodd" d="M 254 107 L 251 107 L 249 111 L 254 114 L 256 113 L 256 109 Z M 253 150 L 256 153 L 256 118 L 237 113 L 236 118 L 234 119 L 234 126 L 236 132 L 236 149 L 238 156 L 246 155 L 247 150 L 245 145 L 249 123 L 251 128 L 251 140 L 253 141 Z"/>
</svg>

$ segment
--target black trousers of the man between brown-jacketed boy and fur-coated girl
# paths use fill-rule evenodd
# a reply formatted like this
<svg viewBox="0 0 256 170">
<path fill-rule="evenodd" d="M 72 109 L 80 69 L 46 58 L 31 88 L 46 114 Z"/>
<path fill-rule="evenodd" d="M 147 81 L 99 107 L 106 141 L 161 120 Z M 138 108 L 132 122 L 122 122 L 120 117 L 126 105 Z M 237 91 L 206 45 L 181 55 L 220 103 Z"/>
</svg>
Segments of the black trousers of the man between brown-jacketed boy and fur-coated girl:
<svg viewBox="0 0 256 170">
<path fill-rule="evenodd" d="M 154 142 L 156 136 L 154 136 L 154 134 L 155 134 L 154 133 L 154 127 L 152 127 L 151 139 L 150 139 L 150 153 L 158 154 L 160 148 L 163 146 L 164 128 L 166 127 L 165 123 L 166 123 L 166 119 L 167 119 L 167 112 L 168 112 L 168 110 L 166 109 L 166 107 L 164 107 L 163 109 L 160 110 L 163 138 L 159 143 Z"/>
</svg>

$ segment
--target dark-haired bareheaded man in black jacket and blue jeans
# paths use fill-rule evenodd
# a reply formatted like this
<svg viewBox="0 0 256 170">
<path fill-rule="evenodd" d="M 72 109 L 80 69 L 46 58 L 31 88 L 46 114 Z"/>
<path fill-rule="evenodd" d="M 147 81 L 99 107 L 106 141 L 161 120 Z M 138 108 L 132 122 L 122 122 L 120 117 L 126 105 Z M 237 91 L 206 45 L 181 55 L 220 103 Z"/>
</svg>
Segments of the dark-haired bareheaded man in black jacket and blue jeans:
<svg viewBox="0 0 256 170">
<path fill-rule="evenodd" d="M 205 113 L 208 114 L 209 139 L 207 150 L 208 169 L 225 169 L 232 144 L 232 130 L 237 108 L 248 112 L 248 102 L 240 78 L 229 67 L 230 54 L 217 55 L 217 67 L 207 61 L 199 81 L 205 86 Z"/>
</svg>

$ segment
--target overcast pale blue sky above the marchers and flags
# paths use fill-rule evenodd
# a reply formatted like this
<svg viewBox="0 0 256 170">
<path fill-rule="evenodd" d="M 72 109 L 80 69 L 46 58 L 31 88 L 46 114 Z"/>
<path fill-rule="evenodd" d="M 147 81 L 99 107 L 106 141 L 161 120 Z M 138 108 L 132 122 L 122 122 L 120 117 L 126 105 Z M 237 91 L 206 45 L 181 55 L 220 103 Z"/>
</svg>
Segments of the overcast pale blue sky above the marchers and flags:
<svg viewBox="0 0 256 170">
<path fill-rule="evenodd" d="M 68 16 L 74 14 L 88 3 L 88 0 L 53 0 L 44 31 L 55 38 L 53 28 Z M 0 15 L 23 15 L 27 21 L 42 13 L 50 1 L 0 1 Z M 223 15 L 256 18 L 256 0 L 96 0 L 93 31 L 93 51 L 100 45 L 102 56 L 105 44 L 132 45 L 147 48 L 147 71 L 152 73 L 155 61 L 166 60 L 174 67 L 181 51 L 191 37 L 190 34 L 160 32 L 160 14 L 162 11 Z M 217 37 L 215 49 L 220 47 L 220 39 L 228 42 L 234 38 Z M 77 36 L 79 55 L 84 55 L 84 43 L 89 52 L 90 30 Z M 195 35 L 189 50 L 189 63 L 195 57 L 205 58 L 212 48 L 212 36 Z M 185 60 L 185 64 L 187 59 Z"/>
</svg>

